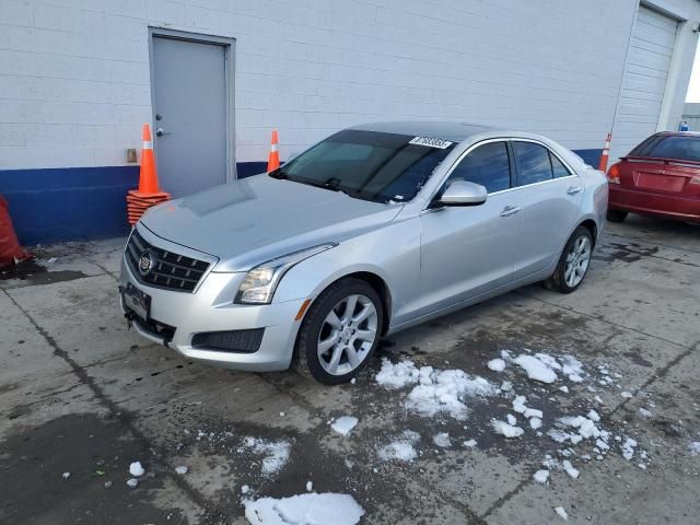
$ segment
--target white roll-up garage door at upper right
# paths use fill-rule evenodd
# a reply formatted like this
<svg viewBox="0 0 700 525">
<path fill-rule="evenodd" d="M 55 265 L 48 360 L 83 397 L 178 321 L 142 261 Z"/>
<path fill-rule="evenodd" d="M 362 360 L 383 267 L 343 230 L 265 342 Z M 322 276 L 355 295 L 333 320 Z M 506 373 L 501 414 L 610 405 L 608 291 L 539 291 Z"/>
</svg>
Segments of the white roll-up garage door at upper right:
<svg viewBox="0 0 700 525">
<path fill-rule="evenodd" d="M 640 7 L 630 42 L 610 160 L 626 155 L 656 132 L 678 21 Z"/>
</svg>

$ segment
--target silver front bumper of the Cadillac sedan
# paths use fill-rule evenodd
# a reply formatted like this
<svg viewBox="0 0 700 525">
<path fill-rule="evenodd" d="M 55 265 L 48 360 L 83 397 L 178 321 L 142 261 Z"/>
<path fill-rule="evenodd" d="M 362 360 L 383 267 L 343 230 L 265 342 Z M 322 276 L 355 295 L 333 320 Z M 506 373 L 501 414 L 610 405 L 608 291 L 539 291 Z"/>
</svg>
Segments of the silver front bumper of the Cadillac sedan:
<svg viewBox="0 0 700 525">
<path fill-rule="evenodd" d="M 144 338 L 165 345 L 187 358 L 210 364 L 252 372 L 269 372 L 289 368 L 301 322 L 294 320 L 304 299 L 266 305 L 233 304 L 243 273 L 209 272 L 195 293 L 161 290 L 139 282 L 121 258 L 120 288 L 127 283 L 151 296 L 150 318 L 139 319 L 130 312 L 120 294 L 121 310 L 131 326 Z M 232 292 L 233 291 L 233 292 Z M 166 328 L 156 328 L 166 325 Z M 252 330 L 264 328 L 259 348 L 253 353 L 192 347 L 199 332 Z"/>
</svg>

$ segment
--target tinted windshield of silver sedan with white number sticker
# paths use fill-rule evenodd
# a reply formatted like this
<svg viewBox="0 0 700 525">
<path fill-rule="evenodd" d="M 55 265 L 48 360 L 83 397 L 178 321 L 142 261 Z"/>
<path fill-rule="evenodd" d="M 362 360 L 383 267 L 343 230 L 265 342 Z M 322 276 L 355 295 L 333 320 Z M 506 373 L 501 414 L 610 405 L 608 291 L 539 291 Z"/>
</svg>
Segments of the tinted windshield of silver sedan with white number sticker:
<svg viewBox="0 0 700 525">
<path fill-rule="evenodd" d="M 345 130 L 270 173 L 376 202 L 407 202 L 455 143 L 446 140 Z"/>
</svg>

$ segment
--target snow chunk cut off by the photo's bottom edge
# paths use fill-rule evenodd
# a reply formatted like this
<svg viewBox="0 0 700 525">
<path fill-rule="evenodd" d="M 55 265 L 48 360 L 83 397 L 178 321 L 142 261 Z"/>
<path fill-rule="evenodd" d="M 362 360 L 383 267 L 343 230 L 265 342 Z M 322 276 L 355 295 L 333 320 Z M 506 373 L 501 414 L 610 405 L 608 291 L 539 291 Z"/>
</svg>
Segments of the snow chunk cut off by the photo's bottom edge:
<svg viewBox="0 0 700 525">
<path fill-rule="evenodd" d="M 350 494 L 331 492 L 299 494 L 291 498 L 247 500 L 245 517 L 252 525 L 310 525 L 332 523 L 355 525 L 364 510 Z"/>
</svg>

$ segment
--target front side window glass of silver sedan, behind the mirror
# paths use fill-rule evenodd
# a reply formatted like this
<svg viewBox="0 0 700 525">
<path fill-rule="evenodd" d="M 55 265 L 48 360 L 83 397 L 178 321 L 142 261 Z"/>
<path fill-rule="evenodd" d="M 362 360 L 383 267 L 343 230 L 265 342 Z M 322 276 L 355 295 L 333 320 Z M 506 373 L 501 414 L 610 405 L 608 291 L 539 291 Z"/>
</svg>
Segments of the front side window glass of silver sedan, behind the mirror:
<svg viewBox="0 0 700 525">
<path fill-rule="evenodd" d="M 450 182 L 467 180 L 489 194 L 511 187 L 511 165 L 505 142 L 489 142 L 469 152 L 450 175 Z"/>
</svg>

